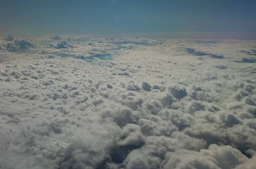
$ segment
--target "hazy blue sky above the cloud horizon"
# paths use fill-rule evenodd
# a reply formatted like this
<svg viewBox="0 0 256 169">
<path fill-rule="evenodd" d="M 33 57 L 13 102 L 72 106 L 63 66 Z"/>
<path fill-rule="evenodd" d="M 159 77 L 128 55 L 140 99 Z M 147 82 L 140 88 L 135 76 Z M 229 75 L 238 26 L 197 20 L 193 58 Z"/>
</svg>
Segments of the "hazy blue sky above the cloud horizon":
<svg viewBox="0 0 256 169">
<path fill-rule="evenodd" d="M 0 34 L 255 31 L 255 0 L 3 0 Z"/>
</svg>

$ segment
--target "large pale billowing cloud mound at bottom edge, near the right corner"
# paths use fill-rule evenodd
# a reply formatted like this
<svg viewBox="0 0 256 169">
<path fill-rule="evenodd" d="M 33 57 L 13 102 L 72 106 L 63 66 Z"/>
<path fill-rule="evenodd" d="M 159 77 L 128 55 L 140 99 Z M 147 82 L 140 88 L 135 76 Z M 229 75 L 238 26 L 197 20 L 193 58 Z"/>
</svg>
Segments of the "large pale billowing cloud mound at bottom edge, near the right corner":
<svg viewBox="0 0 256 169">
<path fill-rule="evenodd" d="M 232 169 L 247 161 L 247 158 L 231 146 L 212 144 L 200 152 L 180 149 L 166 155 L 169 160 L 164 169 Z"/>
</svg>

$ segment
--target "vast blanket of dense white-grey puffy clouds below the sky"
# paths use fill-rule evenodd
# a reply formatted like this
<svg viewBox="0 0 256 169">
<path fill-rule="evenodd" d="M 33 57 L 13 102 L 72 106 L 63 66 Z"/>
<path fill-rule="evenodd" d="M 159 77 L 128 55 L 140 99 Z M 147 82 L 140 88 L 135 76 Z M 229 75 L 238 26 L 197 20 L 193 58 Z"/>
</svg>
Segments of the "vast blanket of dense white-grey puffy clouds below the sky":
<svg viewBox="0 0 256 169">
<path fill-rule="evenodd" d="M 0 51 L 0 168 L 255 169 L 256 42 L 62 38 Z"/>
</svg>

